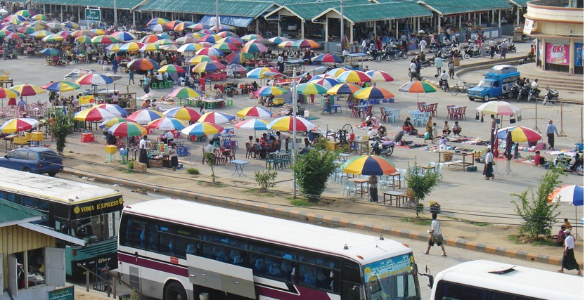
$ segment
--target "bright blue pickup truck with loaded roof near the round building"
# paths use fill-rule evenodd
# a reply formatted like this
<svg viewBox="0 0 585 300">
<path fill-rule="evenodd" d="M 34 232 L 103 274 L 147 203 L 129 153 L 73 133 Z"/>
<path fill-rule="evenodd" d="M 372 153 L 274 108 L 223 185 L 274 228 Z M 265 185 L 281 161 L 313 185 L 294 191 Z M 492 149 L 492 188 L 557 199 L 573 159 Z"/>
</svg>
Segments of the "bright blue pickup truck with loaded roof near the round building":
<svg viewBox="0 0 585 300">
<path fill-rule="evenodd" d="M 510 89 L 520 72 L 511 65 L 496 65 L 489 70 L 485 78 L 477 86 L 468 89 L 469 100 L 482 99 L 489 101 L 492 98 L 510 97 Z"/>
</svg>

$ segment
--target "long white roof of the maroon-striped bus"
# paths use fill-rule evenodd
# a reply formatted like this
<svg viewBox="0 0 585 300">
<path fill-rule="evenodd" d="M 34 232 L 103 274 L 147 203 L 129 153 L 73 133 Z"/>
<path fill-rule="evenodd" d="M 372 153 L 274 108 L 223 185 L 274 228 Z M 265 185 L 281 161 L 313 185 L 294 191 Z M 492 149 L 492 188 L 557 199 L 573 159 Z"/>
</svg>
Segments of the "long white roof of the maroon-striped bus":
<svg viewBox="0 0 585 300">
<path fill-rule="evenodd" d="M 222 233 L 344 256 L 362 264 L 409 254 L 394 240 L 176 199 L 131 204 L 124 213 L 212 228 Z M 344 249 L 347 244 L 348 249 Z"/>
</svg>

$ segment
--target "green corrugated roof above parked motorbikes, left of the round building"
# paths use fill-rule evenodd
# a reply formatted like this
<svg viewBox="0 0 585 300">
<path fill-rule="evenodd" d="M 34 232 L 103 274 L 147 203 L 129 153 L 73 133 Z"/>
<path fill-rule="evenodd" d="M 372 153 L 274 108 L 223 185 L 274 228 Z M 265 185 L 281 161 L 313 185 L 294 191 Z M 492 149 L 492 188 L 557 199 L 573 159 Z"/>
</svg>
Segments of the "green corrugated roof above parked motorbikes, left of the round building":
<svg viewBox="0 0 585 300">
<path fill-rule="evenodd" d="M 420 0 L 418 3 L 427 6 L 441 15 L 512 8 L 510 2 L 506 0 Z"/>
</svg>

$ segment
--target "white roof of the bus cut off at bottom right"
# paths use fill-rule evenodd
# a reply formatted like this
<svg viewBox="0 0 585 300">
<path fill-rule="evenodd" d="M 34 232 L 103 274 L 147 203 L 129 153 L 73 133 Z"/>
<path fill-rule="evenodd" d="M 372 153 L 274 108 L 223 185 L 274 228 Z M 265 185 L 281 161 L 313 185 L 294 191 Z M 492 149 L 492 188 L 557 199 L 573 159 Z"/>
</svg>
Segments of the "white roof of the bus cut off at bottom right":
<svg viewBox="0 0 585 300">
<path fill-rule="evenodd" d="M 579 276 L 496 261 L 460 263 L 438 273 L 435 284 L 439 280 L 538 299 L 583 299 L 583 278 Z"/>
</svg>

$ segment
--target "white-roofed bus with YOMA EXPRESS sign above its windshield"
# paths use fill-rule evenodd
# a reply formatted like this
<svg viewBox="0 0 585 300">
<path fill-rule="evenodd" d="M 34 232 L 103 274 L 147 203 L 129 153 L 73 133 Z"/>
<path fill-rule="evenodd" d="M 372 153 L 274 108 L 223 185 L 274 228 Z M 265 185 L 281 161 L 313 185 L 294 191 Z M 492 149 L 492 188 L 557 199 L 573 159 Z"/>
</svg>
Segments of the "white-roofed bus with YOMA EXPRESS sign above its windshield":
<svg viewBox="0 0 585 300">
<path fill-rule="evenodd" d="M 110 188 L 0 168 L 0 198 L 45 214 L 25 223 L 56 237 L 65 248 L 65 271 L 77 277 L 86 268 L 117 268 L 116 244 L 122 193 Z"/>
</svg>

